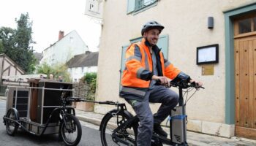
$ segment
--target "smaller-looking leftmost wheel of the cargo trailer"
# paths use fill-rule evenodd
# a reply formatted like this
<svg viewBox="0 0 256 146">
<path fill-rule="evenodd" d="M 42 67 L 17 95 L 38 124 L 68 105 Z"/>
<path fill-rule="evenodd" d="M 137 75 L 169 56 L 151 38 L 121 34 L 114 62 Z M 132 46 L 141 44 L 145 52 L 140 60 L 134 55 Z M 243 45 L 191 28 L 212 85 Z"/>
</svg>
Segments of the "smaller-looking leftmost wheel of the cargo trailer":
<svg viewBox="0 0 256 146">
<path fill-rule="evenodd" d="M 10 136 L 14 136 L 15 132 L 18 129 L 18 123 L 16 123 L 19 119 L 18 117 L 18 111 L 15 109 L 10 109 L 7 112 L 6 118 L 10 118 L 12 120 L 6 119 L 6 129 L 7 129 L 7 134 L 9 134 Z M 16 121 L 16 122 L 15 122 Z"/>
</svg>

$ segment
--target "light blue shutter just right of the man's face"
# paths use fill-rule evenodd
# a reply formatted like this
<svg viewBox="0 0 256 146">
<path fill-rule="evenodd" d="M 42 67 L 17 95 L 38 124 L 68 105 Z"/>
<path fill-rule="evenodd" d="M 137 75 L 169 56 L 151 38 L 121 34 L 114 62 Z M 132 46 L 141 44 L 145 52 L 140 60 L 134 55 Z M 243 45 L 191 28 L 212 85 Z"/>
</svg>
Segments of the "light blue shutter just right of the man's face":
<svg viewBox="0 0 256 146">
<path fill-rule="evenodd" d="M 168 35 L 162 35 L 159 37 L 157 46 L 161 49 L 162 53 L 164 53 L 165 58 L 168 59 Z"/>
</svg>

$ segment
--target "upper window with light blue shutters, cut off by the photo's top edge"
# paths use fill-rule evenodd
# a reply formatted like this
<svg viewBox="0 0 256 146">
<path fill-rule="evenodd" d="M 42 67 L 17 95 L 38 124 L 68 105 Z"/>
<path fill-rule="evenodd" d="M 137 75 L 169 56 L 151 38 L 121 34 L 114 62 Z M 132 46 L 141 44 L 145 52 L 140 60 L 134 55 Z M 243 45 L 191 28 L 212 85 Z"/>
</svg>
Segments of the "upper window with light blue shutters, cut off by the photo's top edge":
<svg viewBox="0 0 256 146">
<path fill-rule="evenodd" d="M 127 14 L 142 12 L 157 5 L 158 0 L 127 0 Z"/>
</svg>

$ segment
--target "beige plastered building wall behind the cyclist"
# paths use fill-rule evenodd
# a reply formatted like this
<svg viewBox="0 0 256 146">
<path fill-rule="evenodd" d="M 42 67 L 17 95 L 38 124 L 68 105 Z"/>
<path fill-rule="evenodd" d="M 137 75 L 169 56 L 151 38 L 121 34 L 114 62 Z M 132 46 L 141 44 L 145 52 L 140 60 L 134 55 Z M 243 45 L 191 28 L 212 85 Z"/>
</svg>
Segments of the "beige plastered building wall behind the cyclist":
<svg viewBox="0 0 256 146">
<path fill-rule="evenodd" d="M 168 59 L 193 79 L 201 80 L 205 90 L 198 91 L 187 104 L 187 115 L 200 122 L 225 123 L 225 22 L 223 11 L 255 0 L 166 0 L 136 15 L 127 15 L 127 1 L 105 1 L 102 37 L 99 45 L 97 100 L 122 101 L 118 97 L 121 47 L 129 39 L 140 37 L 148 20 L 157 20 L 169 35 Z M 207 18 L 214 17 L 214 29 L 207 28 Z M 196 47 L 219 44 L 219 64 L 214 75 L 202 76 L 196 65 Z M 158 104 L 152 106 L 156 112 Z M 96 112 L 114 107 L 96 106 Z"/>
</svg>

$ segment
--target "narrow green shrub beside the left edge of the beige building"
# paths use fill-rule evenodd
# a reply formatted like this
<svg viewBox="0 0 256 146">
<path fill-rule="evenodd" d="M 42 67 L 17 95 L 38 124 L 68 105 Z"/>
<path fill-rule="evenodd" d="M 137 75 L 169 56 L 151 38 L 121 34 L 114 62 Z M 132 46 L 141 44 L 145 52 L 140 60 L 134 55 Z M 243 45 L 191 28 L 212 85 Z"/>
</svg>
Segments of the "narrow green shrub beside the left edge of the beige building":
<svg viewBox="0 0 256 146">
<path fill-rule="evenodd" d="M 89 85 L 89 92 L 86 99 L 88 100 L 95 100 L 95 93 L 96 93 L 96 85 L 97 85 L 97 73 L 86 73 L 84 76 L 84 81 L 87 85 Z"/>
</svg>

